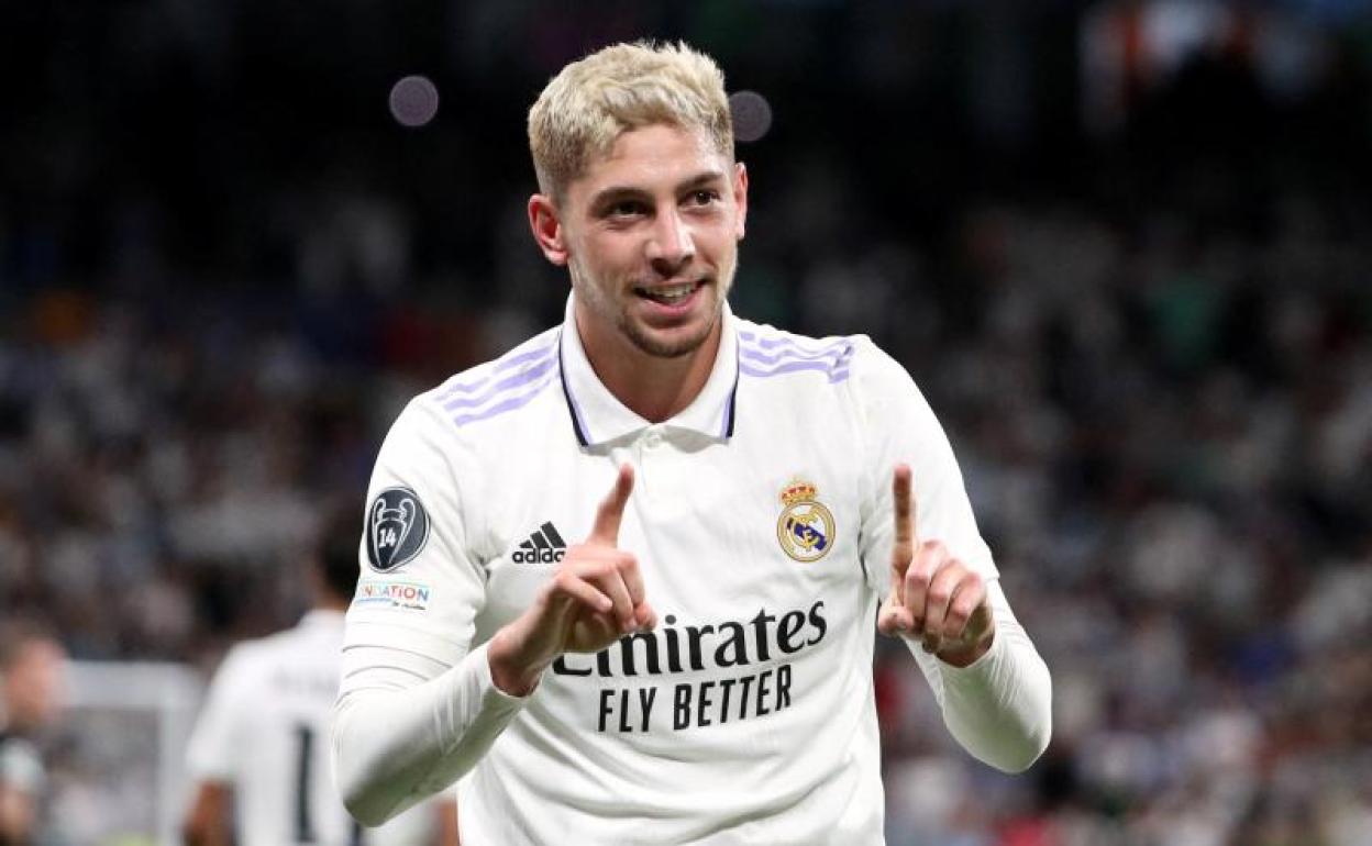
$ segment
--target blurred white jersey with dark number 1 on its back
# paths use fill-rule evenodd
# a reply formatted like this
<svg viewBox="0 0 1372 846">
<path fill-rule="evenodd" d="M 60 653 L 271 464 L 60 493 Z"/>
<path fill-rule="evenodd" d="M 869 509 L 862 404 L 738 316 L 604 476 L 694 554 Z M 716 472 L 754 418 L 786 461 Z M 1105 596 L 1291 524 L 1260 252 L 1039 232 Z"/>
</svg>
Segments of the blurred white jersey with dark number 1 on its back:
<svg viewBox="0 0 1372 846">
<path fill-rule="evenodd" d="M 243 846 L 436 842 L 432 806 L 364 831 L 339 801 L 328 735 L 342 643 L 343 614 L 313 610 L 295 628 L 235 646 L 214 676 L 188 769 L 233 788 Z"/>
</svg>

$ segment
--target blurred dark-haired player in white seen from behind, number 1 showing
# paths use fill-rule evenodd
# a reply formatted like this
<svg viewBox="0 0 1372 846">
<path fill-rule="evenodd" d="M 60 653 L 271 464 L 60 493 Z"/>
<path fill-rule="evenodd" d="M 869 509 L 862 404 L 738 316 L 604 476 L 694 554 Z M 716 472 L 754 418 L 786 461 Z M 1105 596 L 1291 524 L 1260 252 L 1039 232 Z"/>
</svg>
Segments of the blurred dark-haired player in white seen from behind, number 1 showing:
<svg viewBox="0 0 1372 846">
<path fill-rule="evenodd" d="M 456 846 L 450 798 L 364 832 L 333 786 L 327 738 L 343 610 L 357 581 L 355 525 L 355 518 L 336 521 L 325 533 L 311 562 L 316 599 L 305 618 L 235 646 L 215 673 L 187 756 L 196 779 L 182 824 L 191 846 Z"/>
</svg>

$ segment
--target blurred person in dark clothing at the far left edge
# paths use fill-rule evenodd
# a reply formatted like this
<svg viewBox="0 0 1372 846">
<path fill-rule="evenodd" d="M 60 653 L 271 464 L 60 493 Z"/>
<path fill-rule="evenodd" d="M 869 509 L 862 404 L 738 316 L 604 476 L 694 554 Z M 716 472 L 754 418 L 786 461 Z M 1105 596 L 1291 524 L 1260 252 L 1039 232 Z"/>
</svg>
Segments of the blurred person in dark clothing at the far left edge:
<svg viewBox="0 0 1372 846">
<path fill-rule="evenodd" d="M 66 661 L 43 625 L 16 620 L 0 628 L 0 846 L 38 835 L 47 771 L 34 738 L 62 710 Z"/>
</svg>

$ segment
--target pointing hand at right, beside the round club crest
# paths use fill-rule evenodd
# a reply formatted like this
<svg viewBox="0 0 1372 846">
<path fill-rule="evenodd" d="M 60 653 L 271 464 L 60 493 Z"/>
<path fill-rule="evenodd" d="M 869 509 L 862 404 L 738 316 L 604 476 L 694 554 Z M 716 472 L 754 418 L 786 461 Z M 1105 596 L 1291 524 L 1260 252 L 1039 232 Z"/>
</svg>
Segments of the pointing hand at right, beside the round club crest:
<svg viewBox="0 0 1372 846">
<path fill-rule="evenodd" d="M 991 649 L 996 635 L 986 584 L 941 540 L 919 540 L 907 465 L 896 468 L 892 495 L 890 595 L 877 616 L 877 628 L 885 635 L 919 638 L 926 653 L 967 666 Z"/>
</svg>

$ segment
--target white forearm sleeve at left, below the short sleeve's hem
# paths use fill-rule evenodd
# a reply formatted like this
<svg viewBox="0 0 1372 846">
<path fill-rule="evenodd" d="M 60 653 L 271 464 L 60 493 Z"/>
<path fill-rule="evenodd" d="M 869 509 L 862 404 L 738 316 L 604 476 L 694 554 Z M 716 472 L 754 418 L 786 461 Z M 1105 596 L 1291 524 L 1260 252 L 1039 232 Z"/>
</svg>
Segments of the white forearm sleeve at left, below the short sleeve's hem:
<svg viewBox="0 0 1372 846">
<path fill-rule="evenodd" d="M 456 782 L 523 705 L 491 683 L 484 647 L 428 680 L 412 653 L 359 647 L 335 709 L 333 753 L 348 812 L 377 825 Z"/>
</svg>

